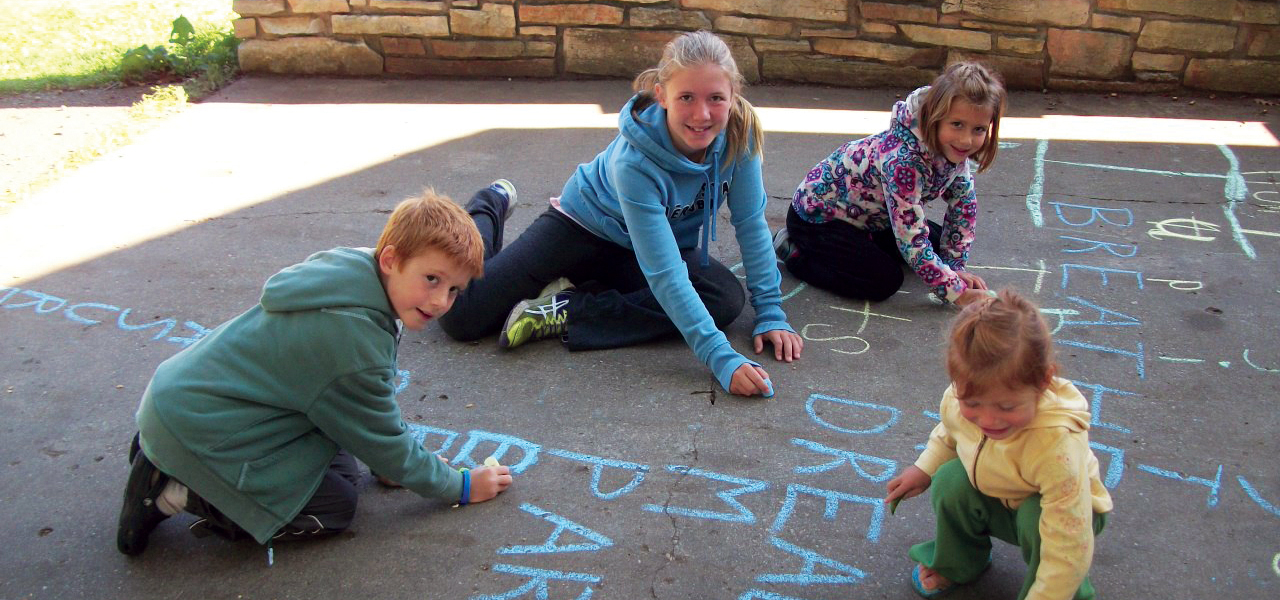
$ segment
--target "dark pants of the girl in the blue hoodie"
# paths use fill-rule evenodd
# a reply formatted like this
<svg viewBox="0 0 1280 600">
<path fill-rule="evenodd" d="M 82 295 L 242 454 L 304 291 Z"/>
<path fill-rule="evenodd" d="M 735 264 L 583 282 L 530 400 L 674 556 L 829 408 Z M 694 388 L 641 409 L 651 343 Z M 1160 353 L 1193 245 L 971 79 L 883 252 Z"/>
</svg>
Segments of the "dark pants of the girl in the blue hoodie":
<svg viewBox="0 0 1280 600">
<path fill-rule="evenodd" d="M 680 331 L 649 289 L 635 252 L 586 230 L 556 209 L 548 209 L 511 243 L 502 246 L 504 215 L 495 209 L 495 192 L 483 189 L 467 202 L 467 212 L 485 243 L 484 278 L 463 290 L 440 328 L 457 340 L 497 335 L 517 302 L 538 296 L 548 283 L 568 278 L 577 293 L 568 301 L 571 351 L 620 348 Z M 681 252 L 689 280 L 716 326 L 724 329 L 742 312 L 746 293 L 737 276 L 700 252 Z"/>
</svg>

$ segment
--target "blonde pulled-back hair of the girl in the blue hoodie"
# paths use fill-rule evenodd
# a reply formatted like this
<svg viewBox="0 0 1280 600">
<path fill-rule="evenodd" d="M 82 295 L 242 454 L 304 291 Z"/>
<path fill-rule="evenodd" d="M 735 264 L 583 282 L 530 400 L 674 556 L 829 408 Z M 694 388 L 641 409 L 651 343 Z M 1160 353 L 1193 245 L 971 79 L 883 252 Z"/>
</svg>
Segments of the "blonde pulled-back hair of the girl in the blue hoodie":
<svg viewBox="0 0 1280 600">
<path fill-rule="evenodd" d="M 645 69 L 631 82 L 631 88 L 640 95 L 632 110 L 639 113 L 653 104 L 658 84 L 666 84 L 680 70 L 701 64 L 714 64 L 723 69 L 733 90 L 728 124 L 724 127 L 728 161 L 732 162 L 739 156 L 762 154 L 764 133 L 760 130 L 760 119 L 751 102 L 742 97 L 742 73 L 737 70 L 737 63 L 733 61 L 733 54 L 730 52 L 724 40 L 709 31 L 682 33 L 667 42 L 658 65 Z"/>
</svg>

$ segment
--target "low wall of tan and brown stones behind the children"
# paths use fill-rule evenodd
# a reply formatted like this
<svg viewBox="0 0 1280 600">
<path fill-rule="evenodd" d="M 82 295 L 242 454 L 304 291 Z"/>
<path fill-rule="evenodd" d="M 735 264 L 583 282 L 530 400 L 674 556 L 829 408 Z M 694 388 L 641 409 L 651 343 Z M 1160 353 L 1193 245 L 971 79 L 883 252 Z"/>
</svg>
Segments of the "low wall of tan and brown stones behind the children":
<svg viewBox="0 0 1280 600">
<path fill-rule="evenodd" d="M 710 29 L 750 82 L 1280 93 L 1277 0 L 233 0 L 246 72 L 634 77 Z"/>
</svg>

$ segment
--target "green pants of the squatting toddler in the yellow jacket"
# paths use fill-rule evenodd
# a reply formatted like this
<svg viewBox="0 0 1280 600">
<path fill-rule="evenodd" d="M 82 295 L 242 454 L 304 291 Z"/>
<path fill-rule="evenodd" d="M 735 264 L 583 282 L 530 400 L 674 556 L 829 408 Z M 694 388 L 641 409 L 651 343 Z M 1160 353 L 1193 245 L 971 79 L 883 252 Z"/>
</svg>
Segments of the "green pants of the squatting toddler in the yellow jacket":
<svg viewBox="0 0 1280 600">
<path fill-rule="evenodd" d="M 1018 600 L 1027 597 L 1039 568 L 1039 494 L 1032 495 L 1010 510 L 1000 500 L 983 495 L 969 484 L 969 476 L 959 458 L 954 458 L 933 475 L 929 501 L 938 521 L 933 541 L 911 546 L 909 555 L 956 583 L 978 578 L 991 557 L 991 536 L 1014 544 L 1023 550 L 1027 578 Z M 1107 525 L 1105 513 L 1093 514 L 1093 535 Z M 1075 600 L 1092 600 L 1093 583 L 1085 577 L 1075 591 Z"/>
</svg>

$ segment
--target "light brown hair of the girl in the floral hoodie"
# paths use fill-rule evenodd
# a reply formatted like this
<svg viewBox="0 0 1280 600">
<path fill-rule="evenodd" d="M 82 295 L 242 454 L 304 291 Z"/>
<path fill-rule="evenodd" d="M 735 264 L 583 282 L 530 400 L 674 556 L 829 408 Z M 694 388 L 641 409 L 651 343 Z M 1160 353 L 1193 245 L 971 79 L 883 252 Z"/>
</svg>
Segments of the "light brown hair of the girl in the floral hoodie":
<svg viewBox="0 0 1280 600">
<path fill-rule="evenodd" d="M 1007 92 L 1005 84 L 992 70 L 978 63 L 956 63 L 947 67 L 924 95 L 920 104 L 920 133 L 924 134 L 924 145 L 937 152 L 938 124 L 951 110 L 955 99 L 968 101 L 974 106 L 991 109 L 991 130 L 987 132 L 987 141 L 982 145 L 973 159 L 978 161 L 978 173 L 987 170 L 996 161 L 996 151 L 1000 150 L 1000 115 L 1005 113 Z"/>
</svg>

